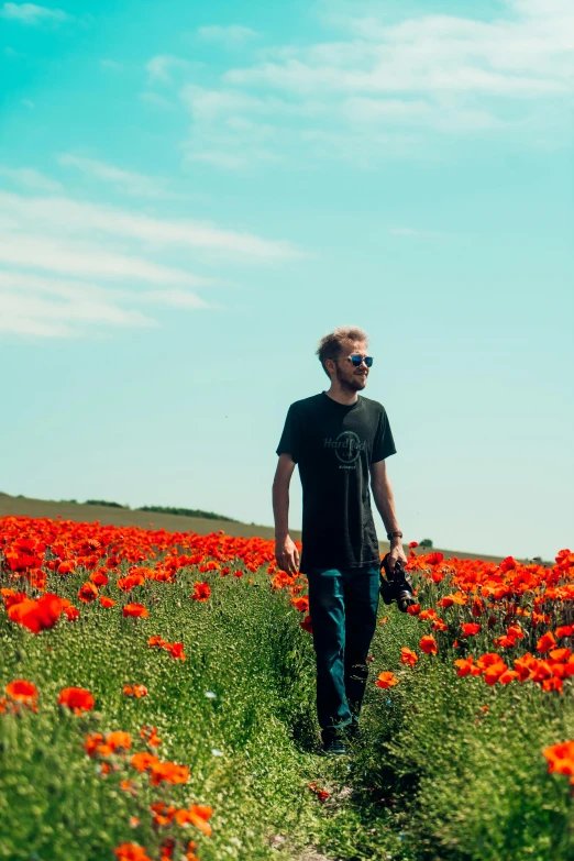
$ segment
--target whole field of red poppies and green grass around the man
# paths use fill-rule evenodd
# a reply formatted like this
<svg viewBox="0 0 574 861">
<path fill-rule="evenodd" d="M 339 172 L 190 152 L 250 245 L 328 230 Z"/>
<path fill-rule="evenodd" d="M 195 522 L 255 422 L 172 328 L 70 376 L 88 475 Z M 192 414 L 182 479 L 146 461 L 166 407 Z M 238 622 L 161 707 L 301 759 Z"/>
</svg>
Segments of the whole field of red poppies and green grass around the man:
<svg viewBox="0 0 574 861">
<path fill-rule="evenodd" d="M 408 570 L 325 758 L 272 541 L 0 519 L 0 858 L 572 859 L 574 553 Z"/>
</svg>

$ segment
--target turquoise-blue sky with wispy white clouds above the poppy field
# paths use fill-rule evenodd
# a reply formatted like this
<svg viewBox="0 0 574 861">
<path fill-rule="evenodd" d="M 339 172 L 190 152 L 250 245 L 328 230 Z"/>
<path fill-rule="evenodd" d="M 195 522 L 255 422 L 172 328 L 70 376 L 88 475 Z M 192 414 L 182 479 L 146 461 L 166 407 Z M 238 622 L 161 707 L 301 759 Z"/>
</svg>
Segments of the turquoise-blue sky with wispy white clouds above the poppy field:
<svg viewBox="0 0 574 861">
<path fill-rule="evenodd" d="M 406 540 L 572 547 L 573 34 L 571 0 L 0 2 L 0 489 L 271 523 L 357 324 Z"/>
</svg>

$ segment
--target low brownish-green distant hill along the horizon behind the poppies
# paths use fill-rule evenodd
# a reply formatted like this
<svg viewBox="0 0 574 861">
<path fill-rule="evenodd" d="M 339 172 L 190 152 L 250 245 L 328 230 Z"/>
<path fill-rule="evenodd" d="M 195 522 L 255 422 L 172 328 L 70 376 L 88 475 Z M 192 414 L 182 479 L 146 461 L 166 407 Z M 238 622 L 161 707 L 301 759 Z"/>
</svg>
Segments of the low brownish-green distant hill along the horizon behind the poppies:
<svg viewBox="0 0 574 861">
<path fill-rule="evenodd" d="M 242 523 L 239 520 L 225 519 L 211 511 L 203 511 L 201 516 L 178 515 L 174 511 L 195 510 L 177 509 L 156 506 L 156 510 L 131 509 L 128 506 L 121 506 L 118 503 L 106 503 L 96 500 L 91 503 L 76 503 L 76 500 L 64 500 L 56 503 L 53 499 L 29 499 L 25 496 L 10 496 L 0 493 L 0 517 L 9 515 L 19 517 L 49 517 L 55 519 L 57 515 L 64 520 L 75 520 L 76 522 L 93 522 L 98 520 L 102 526 L 136 526 L 142 529 L 165 529 L 167 532 L 196 532 L 198 536 L 207 536 L 210 532 L 217 532 L 222 529 L 229 536 L 239 536 L 244 538 L 266 538 L 273 539 L 275 530 L 269 526 L 258 526 L 256 523 Z M 161 510 L 158 510 L 161 509 Z M 217 519 L 216 519 L 217 518 Z M 294 541 L 301 540 L 301 533 L 297 529 L 290 530 Z M 388 541 L 379 541 L 382 553 L 388 550 Z M 444 550 L 442 548 L 432 548 L 433 551 L 442 553 L 445 559 L 483 559 L 486 562 L 501 562 L 503 556 L 492 556 L 485 553 L 467 553 L 461 550 Z M 417 553 L 429 552 L 427 548 L 420 548 Z M 529 562 L 530 560 L 520 560 Z M 550 562 L 547 565 L 553 564 Z"/>
</svg>

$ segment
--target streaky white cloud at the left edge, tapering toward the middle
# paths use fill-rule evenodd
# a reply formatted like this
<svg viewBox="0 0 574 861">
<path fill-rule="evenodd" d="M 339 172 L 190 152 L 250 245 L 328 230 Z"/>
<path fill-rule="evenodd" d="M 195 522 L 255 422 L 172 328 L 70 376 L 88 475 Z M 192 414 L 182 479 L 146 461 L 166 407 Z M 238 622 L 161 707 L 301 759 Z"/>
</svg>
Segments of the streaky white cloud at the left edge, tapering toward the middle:
<svg viewBox="0 0 574 861">
<path fill-rule="evenodd" d="M 7 170 L 16 181 L 46 181 L 33 170 Z M 166 254 L 174 249 L 176 263 Z M 189 255 L 206 251 L 254 263 L 298 254 L 287 243 L 209 223 L 0 192 L 0 332 L 89 338 L 109 328 L 157 325 L 158 309 L 217 310 L 222 306 L 197 290 L 229 283 L 189 265 Z"/>
</svg>

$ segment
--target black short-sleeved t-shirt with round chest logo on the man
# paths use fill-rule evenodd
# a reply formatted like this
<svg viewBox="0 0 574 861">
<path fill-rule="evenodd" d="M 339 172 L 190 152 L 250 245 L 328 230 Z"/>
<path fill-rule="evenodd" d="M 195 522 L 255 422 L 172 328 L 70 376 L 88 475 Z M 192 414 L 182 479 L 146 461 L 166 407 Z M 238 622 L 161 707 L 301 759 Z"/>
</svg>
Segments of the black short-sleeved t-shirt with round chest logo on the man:
<svg viewBox="0 0 574 861">
<path fill-rule="evenodd" d="M 344 406 L 324 391 L 297 400 L 277 446 L 286 452 L 302 485 L 300 570 L 378 565 L 369 465 L 396 453 L 383 405 L 360 395 Z"/>
</svg>

